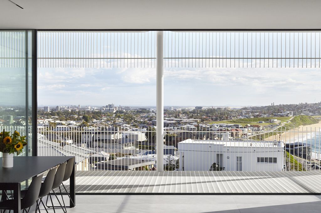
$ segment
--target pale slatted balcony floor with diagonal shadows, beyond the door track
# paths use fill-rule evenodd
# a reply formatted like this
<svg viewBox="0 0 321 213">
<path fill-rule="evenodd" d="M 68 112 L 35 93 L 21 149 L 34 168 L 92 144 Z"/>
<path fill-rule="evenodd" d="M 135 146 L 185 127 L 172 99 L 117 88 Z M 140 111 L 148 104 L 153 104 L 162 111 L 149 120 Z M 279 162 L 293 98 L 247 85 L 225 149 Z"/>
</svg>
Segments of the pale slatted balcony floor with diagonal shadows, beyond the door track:
<svg viewBox="0 0 321 213">
<path fill-rule="evenodd" d="M 77 171 L 76 192 L 318 194 L 320 179 L 318 171 Z"/>
</svg>

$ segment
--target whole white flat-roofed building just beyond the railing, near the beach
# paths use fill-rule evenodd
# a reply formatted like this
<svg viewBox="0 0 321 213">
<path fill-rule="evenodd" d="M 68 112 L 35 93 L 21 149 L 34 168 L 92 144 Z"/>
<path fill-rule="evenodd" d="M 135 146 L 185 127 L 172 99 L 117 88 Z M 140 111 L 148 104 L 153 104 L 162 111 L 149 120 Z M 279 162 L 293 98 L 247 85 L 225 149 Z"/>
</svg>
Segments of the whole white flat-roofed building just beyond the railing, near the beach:
<svg viewBox="0 0 321 213">
<path fill-rule="evenodd" d="M 282 141 L 187 139 L 178 143 L 178 153 L 185 171 L 209 171 L 213 163 L 225 171 L 282 171 L 285 165 Z"/>
</svg>

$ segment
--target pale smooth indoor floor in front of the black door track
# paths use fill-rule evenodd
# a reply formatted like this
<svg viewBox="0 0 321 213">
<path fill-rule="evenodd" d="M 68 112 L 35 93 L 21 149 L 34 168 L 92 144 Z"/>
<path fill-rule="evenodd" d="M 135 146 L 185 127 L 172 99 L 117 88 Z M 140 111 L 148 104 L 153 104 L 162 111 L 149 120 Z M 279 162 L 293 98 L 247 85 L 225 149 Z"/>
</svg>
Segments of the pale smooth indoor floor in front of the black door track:
<svg viewBox="0 0 321 213">
<path fill-rule="evenodd" d="M 45 212 L 43 207 L 40 209 L 41 212 Z M 77 195 L 76 207 L 67 209 L 68 213 L 319 213 L 320 211 L 320 195 Z M 56 212 L 63 211 L 56 209 Z"/>
</svg>

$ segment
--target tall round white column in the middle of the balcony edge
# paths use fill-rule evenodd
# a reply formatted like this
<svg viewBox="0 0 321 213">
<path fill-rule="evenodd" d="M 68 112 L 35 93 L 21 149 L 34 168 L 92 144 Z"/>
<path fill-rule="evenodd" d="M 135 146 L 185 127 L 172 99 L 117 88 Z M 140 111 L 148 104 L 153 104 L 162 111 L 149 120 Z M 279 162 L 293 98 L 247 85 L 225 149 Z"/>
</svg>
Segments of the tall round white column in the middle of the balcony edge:
<svg viewBox="0 0 321 213">
<path fill-rule="evenodd" d="M 164 171 L 164 78 L 163 78 L 163 31 L 156 35 L 156 167 Z"/>
</svg>

